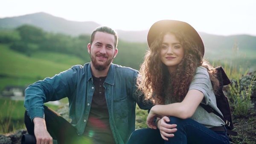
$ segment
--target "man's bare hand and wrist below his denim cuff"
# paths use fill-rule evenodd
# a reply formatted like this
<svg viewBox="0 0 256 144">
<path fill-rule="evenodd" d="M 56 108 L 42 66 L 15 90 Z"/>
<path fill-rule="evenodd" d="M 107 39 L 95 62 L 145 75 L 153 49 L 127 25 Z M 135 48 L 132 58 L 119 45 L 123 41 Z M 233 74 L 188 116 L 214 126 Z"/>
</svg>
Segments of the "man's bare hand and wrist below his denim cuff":
<svg viewBox="0 0 256 144">
<path fill-rule="evenodd" d="M 47 131 L 44 118 L 35 117 L 33 122 L 36 144 L 52 144 L 52 137 Z"/>
</svg>

